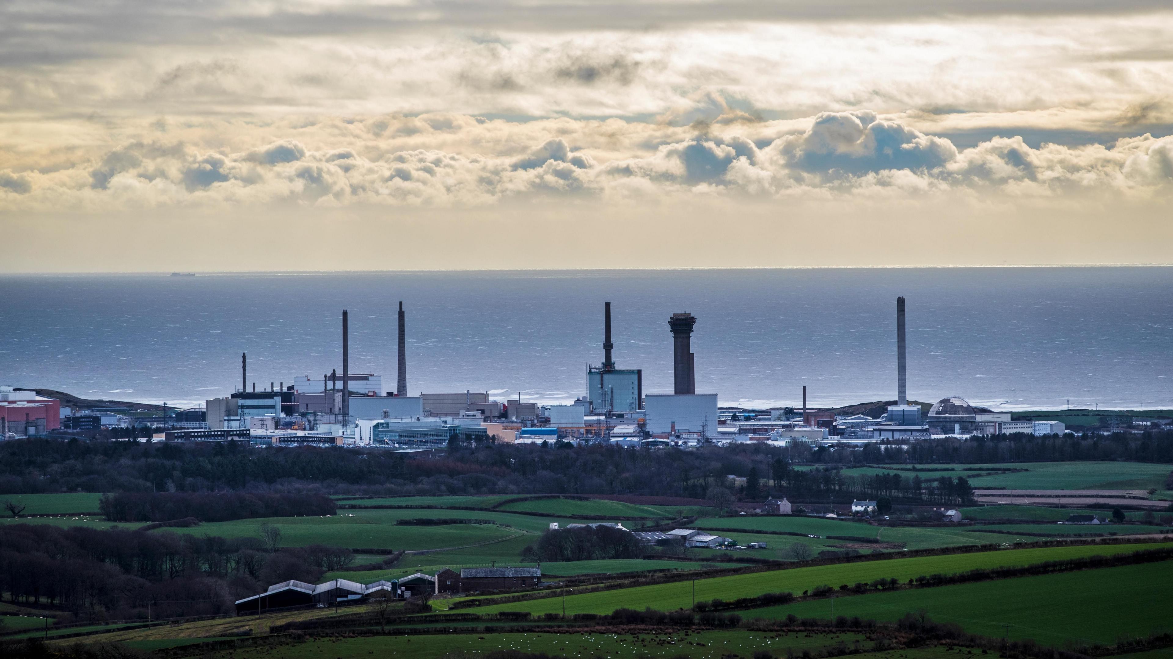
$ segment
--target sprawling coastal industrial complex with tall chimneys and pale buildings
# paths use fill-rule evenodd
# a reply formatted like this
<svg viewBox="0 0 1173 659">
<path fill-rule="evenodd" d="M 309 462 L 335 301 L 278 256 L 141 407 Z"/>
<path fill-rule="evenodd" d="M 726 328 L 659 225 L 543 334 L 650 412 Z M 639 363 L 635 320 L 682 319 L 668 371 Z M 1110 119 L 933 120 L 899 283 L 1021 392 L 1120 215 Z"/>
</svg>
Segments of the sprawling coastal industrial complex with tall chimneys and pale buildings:
<svg viewBox="0 0 1173 659">
<path fill-rule="evenodd" d="M 100 428 L 140 427 L 136 436 L 167 441 L 244 440 L 259 444 L 314 444 L 434 451 L 452 441 L 507 443 L 601 443 L 625 448 L 690 448 L 705 443 L 767 442 L 907 443 L 933 436 L 968 437 L 1028 433 L 1063 434 L 1059 421 L 1013 420 L 1010 413 L 974 407 L 958 396 L 935 405 L 908 400 L 906 300 L 896 299 L 896 396 L 882 413 L 835 414 L 807 407 L 744 409 L 720 407 L 717 392 L 697 392 L 691 338 L 698 319 L 673 313 L 671 392 L 645 392 L 642 368 L 618 368 L 611 304 L 603 305 L 603 361 L 588 365 L 583 394 L 567 405 L 537 405 L 517 398 L 493 400 L 487 392 L 408 395 L 407 314 L 398 310 L 398 369 L 394 389 L 377 373 L 351 373 L 350 314 L 341 312 L 341 372 L 320 379 L 293 375 L 289 383 L 258 388 L 240 355 L 239 387 L 201 408 L 142 419 L 126 410 L 72 409 L 34 392 L 0 388 L 0 436 L 16 437 Z M 703 327 L 703 325 L 701 325 Z"/>
</svg>

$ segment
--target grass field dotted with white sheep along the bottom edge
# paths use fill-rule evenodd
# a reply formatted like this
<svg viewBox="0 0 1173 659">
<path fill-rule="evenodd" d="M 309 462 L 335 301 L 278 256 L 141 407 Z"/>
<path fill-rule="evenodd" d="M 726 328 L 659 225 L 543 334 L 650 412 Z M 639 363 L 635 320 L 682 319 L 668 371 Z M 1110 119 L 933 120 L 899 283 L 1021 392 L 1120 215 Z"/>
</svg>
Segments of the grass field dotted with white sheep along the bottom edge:
<svg viewBox="0 0 1173 659">
<path fill-rule="evenodd" d="M 801 653 L 846 644 L 848 647 L 868 647 L 861 634 L 852 633 L 791 633 L 777 634 L 744 630 L 645 634 L 585 634 L 585 633 L 483 633 L 434 634 L 412 637 L 367 637 L 330 641 L 283 645 L 274 651 L 246 648 L 232 657 L 272 657 L 290 659 L 337 659 L 378 657 L 441 658 L 450 652 L 490 652 L 515 650 L 527 653 L 547 653 L 554 657 L 677 657 L 687 654 L 697 659 L 720 659 L 731 654 L 752 657 L 755 651 L 768 650 L 786 657 L 788 650 Z M 867 657 L 866 654 L 862 657 Z M 942 654 L 941 657 L 944 657 Z"/>
</svg>

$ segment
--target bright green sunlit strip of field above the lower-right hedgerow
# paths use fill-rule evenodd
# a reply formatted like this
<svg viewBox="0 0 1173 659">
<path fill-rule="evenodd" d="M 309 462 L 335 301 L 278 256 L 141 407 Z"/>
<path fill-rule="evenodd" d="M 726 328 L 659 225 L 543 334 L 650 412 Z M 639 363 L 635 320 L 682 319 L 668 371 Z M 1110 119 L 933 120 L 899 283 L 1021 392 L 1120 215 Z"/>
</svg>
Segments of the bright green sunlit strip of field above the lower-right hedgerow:
<svg viewBox="0 0 1173 659">
<path fill-rule="evenodd" d="M 893 558 L 886 561 L 752 572 L 727 577 L 698 578 L 696 579 L 696 599 L 706 600 L 720 598 L 731 600 L 740 597 L 755 597 L 766 592 L 793 592 L 798 595 L 802 591 L 813 590 L 821 585 L 839 586 L 840 584 L 872 582 L 879 578 L 897 578 L 907 580 L 922 575 L 945 575 L 982 568 L 1030 565 L 1045 561 L 1062 561 L 1086 556 L 1125 553 L 1140 549 L 1171 546 L 1173 546 L 1173 543 L 1015 549 L 975 553 Z M 567 613 L 610 613 L 621 606 L 637 610 L 650 606 L 662 611 L 672 611 L 678 607 L 689 609 L 692 606 L 692 587 L 693 583 L 690 580 L 571 595 L 567 597 Z M 439 602 L 436 606 L 443 606 L 443 602 Z M 513 604 L 468 609 L 467 611 L 477 613 L 496 611 L 561 613 L 562 599 L 536 599 L 530 602 L 517 602 Z"/>
</svg>

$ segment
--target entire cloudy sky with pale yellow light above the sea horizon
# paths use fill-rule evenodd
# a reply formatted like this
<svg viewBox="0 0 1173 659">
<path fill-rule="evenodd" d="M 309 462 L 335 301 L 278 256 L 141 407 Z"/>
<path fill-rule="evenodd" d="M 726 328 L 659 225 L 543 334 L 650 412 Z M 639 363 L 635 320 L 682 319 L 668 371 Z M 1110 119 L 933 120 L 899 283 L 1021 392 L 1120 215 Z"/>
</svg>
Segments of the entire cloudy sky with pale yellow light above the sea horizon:
<svg viewBox="0 0 1173 659">
<path fill-rule="evenodd" d="M 1171 263 L 1169 7 L 9 0 L 0 272 Z"/>
</svg>

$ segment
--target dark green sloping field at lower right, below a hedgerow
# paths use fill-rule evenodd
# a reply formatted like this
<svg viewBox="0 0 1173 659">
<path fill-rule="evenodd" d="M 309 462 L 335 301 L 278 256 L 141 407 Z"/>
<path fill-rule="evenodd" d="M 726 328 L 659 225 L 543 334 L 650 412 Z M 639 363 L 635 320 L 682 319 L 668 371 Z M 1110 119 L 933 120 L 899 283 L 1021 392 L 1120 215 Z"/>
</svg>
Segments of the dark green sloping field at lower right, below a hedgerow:
<svg viewBox="0 0 1173 659">
<path fill-rule="evenodd" d="M 967 631 L 1045 645 L 1112 644 L 1121 636 L 1173 631 L 1173 561 L 1038 577 L 834 598 L 835 616 L 895 620 L 924 611 Z M 832 600 L 744 611 L 743 617 L 827 618 Z"/>
</svg>

